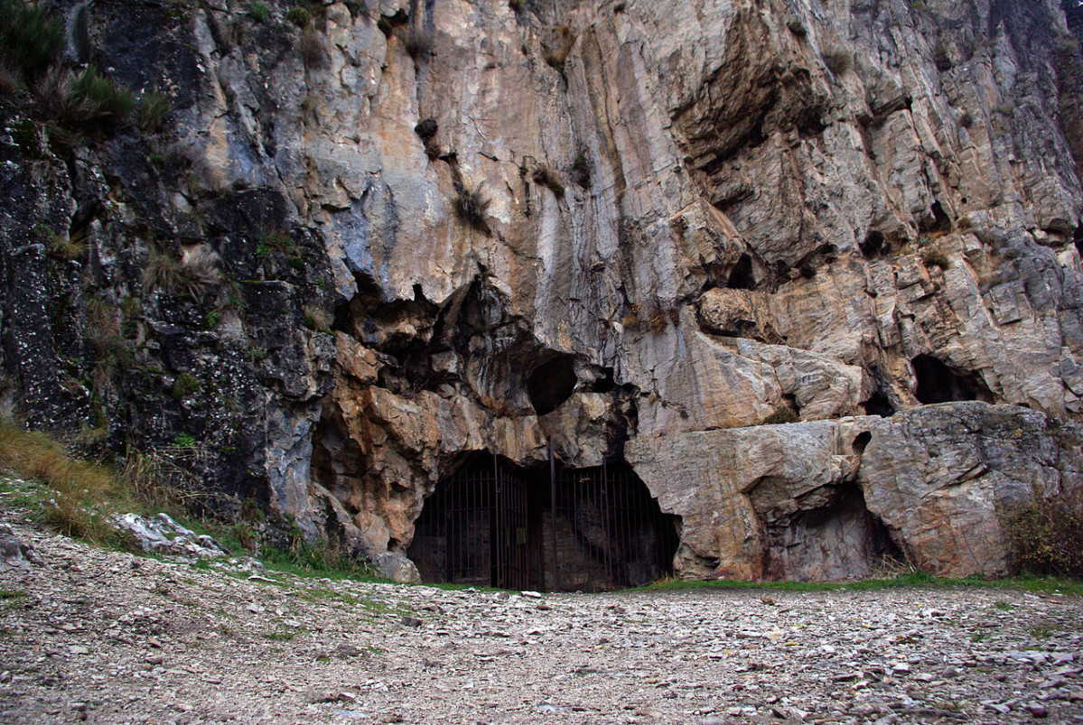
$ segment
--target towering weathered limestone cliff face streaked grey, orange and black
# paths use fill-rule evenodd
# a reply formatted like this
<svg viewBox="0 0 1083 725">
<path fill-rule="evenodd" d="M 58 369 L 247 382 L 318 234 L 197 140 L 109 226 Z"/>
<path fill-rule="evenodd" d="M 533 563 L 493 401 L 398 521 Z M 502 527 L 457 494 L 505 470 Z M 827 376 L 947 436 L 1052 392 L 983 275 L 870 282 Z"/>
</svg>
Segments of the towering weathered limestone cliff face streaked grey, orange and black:
<svg viewBox="0 0 1083 725">
<path fill-rule="evenodd" d="M 632 463 L 682 576 L 1001 570 L 996 512 L 1079 485 L 1059 3 L 511 4 L 60 8 L 174 111 L 60 154 L 4 106 L 13 401 L 195 438 L 208 490 L 400 572 L 465 453 L 550 436 Z"/>
</svg>

